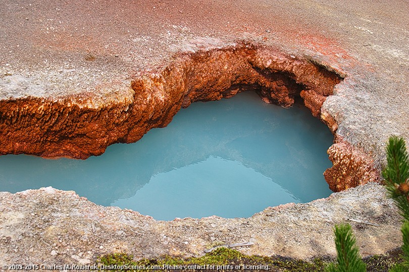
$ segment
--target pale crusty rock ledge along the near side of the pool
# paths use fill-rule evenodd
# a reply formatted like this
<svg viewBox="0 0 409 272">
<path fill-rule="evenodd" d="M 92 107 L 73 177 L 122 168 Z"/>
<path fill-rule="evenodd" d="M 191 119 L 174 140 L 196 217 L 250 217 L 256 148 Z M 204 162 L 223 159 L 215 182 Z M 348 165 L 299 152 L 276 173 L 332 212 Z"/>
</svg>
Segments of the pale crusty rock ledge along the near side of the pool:
<svg viewBox="0 0 409 272">
<path fill-rule="evenodd" d="M 52 187 L 0 192 L 0 256 L 5 263 L 94 263 L 127 252 L 142 257 L 192 256 L 216 244 L 253 242 L 247 254 L 294 258 L 335 255 L 334 224 L 352 225 L 363 256 L 401 243 L 401 218 L 382 185 L 368 183 L 309 203 L 288 203 L 250 218 L 156 221 L 130 210 L 95 205 Z"/>
</svg>

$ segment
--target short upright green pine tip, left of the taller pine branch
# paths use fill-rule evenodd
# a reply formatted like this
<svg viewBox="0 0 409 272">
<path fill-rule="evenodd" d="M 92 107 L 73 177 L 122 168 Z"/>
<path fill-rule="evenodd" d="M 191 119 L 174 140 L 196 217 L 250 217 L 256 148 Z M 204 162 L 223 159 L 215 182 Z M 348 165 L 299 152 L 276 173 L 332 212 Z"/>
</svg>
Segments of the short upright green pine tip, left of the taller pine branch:
<svg viewBox="0 0 409 272">
<path fill-rule="evenodd" d="M 331 263 L 329 272 L 364 272 L 366 265 L 362 261 L 351 226 L 348 224 L 335 225 L 335 248 L 337 250 L 337 264 Z"/>
</svg>

